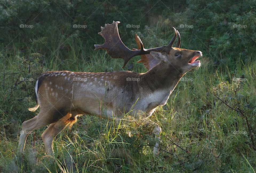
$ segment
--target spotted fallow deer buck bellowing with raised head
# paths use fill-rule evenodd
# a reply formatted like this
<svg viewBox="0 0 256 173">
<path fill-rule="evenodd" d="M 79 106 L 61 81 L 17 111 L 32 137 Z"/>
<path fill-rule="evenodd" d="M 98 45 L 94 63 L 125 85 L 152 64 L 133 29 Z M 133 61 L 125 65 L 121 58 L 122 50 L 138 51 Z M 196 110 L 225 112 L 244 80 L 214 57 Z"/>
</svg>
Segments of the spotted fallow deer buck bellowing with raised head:
<svg viewBox="0 0 256 173">
<path fill-rule="evenodd" d="M 181 37 L 175 28 L 173 39 L 167 46 L 145 49 L 136 34 L 138 49 L 130 50 L 120 39 L 119 23 L 113 21 L 112 24 L 105 24 L 105 28 L 101 27 L 99 34 L 104 37 L 105 43 L 94 45 L 95 50 L 105 49 L 112 58 L 124 59 L 123 67 L 132 57 L 140 55 L 138 62 L 142 62 L 149 71 L 43 73 L 35 84 L 37 105 L 29 108 L 29 111 L 35 111 L 40 106 L 41 110 L 36 117 L 22 123 L 19 137 L 21 152 L 31 131 L 50 124 L 43 132 L 42 139 L 46 152 L 53 153 L 54 137 L 67 125 L 72 125 L 81 114 L 120 120 L 124 113 L 130 112 L 136 117 L 141 115 L 137 114 L 138 111 L 142 111 L 150 117 L 158 106 L 166 104 L 182 76 L 200 66 L 200 61 L 196 59 L 202 56 L 202 52 L 179 48 Z M 177 35 L 178 43 L 172 47 Z M 154 133 L 159 140 L 161 128 L 157 124 Z M 153 152 L 159 152 L 158 142 Z"/>
</svg>

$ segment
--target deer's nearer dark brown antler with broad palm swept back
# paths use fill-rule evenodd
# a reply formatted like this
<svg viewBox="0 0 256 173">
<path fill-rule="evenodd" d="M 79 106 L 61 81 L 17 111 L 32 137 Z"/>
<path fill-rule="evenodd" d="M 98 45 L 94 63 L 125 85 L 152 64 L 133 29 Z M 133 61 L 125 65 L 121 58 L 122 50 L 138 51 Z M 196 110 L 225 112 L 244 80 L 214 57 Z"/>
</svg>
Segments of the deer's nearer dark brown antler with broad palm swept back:
<svg viewBox="0 0 256 173">
<path fill-rule="evenodd" d="M 177 31 L 175 28 L 173 28 L 175 31 L 175 34 L 173 39 L 170 41 L 170 43 L 167 46 L 151 48 L 151 49 L 144 49 L 143 43 L 141 39 L 139 39 L 138 37 L 138 43 L 140 45 L 140 49 L 131 50 L 123 44 L 119 36 L 118 27 L 117 27 L 119 23 L 120 23 L 119 21 L 117 22 L 113 21 L 112 24 L 105 24 L 105 28 L 101 27 L 101 32 L 99 32 L 98 34 L 100 34 L 105 39 L 105 42 L 104 44 L 101 44 L 101 45 L 95 44 L 94 50 L 105 49 L 107 51 L 107 54 L 109 54 L 112 58 L 122 58 L 124 60 L 124 64 L 122 68 L 125 67 L 127 62 L 132 57 L 137 55 L 149 54 L 151 51 L 169 53 L 170 50 L 172 49 L 173 42 L 177 36 Z"/>
</svg>

